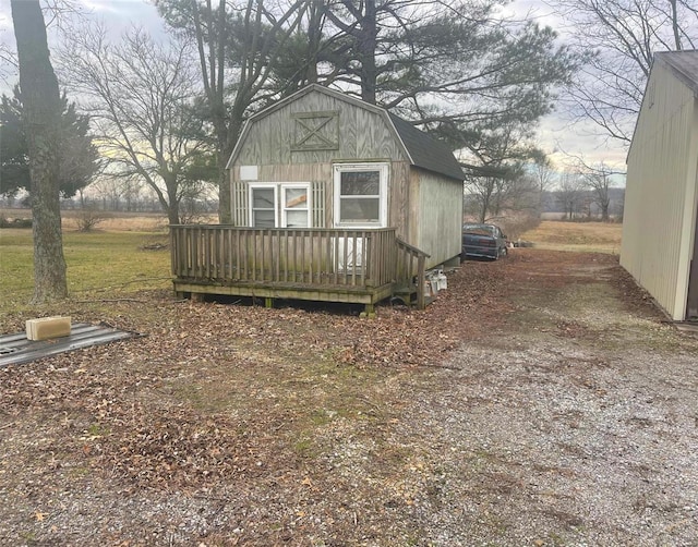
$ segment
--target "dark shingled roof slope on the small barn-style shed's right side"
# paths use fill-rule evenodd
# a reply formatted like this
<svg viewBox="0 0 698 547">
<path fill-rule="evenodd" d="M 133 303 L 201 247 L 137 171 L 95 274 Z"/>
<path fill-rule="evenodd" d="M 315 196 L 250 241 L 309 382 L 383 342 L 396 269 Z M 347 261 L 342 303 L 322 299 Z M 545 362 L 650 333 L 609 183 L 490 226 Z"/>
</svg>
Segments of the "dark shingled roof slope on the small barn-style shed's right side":
<svg viewBox="0 0 698 547">
<path fill-rule="evenodd" d="M 459 181 L 465 179 L 458 161 L 456 161 L 453 153 L 444 143 L 436 141 L 390 112 L 388 112 L 388 116 L 414 166 L 458 179 Z"/>
</svg>

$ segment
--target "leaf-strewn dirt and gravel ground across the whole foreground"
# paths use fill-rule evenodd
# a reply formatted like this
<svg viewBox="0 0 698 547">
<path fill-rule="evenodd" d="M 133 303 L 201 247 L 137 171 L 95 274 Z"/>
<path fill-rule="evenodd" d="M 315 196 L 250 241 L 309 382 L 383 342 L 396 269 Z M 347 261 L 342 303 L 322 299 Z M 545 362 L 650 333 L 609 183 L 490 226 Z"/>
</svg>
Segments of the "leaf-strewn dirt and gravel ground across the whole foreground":
<svg viewBox="0 0 698 547">
<path fill-rule="evenodd" d="M 68 307 L 148 336 L 0 369 L 0 545 L 698 545 L 698 339 L 612 255 L 376 319 Z"/>
</svg>

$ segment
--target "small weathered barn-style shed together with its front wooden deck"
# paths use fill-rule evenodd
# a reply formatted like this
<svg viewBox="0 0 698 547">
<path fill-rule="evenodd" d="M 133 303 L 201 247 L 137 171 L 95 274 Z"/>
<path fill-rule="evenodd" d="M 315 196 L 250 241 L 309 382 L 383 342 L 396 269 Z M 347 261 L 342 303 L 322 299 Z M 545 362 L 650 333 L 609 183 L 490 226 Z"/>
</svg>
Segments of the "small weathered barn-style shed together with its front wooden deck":
<svg viewBox="0 0 698 547">
<path fill-rule="evenodd" d="M 250 118 L 228 169 L 234 226 L 172 229 L 178 292 L 371 308 L 459 262 L 462 170 L 385 109 L 310 85 Z M 193 264 L 202 245 L 216 256 Z"/>
</svg>

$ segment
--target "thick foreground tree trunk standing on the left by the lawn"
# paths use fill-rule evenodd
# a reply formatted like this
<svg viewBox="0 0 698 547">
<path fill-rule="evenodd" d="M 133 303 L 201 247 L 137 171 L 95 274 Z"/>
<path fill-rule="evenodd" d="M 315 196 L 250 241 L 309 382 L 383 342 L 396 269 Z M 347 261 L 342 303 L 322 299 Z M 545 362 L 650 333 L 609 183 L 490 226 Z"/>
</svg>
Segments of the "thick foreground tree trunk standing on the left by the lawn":
<svg viewBox="0 0 698 547">
<path fill-rule="evenodd" d="M 61 101 L 38 0 L 12 0 L 29 151 L 34 303 L 68 296 L 59 197 Z"/>
</svg>

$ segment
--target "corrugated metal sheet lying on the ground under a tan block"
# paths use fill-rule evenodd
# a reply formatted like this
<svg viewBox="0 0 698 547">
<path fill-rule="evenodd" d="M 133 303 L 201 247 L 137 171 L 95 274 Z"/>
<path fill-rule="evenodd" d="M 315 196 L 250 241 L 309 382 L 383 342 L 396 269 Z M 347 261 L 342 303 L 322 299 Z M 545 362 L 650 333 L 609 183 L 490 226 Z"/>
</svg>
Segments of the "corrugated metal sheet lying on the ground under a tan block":
<svg viewBox="0 0 698 547">
<path fill-rule="evenodd" d="M 119 330 L 104 324 L 89 325 L 86 323 L 73 324 L 71 325 L 69 337 L 51 340 L 27 340 L 25 332 L 5 335 L 0 337 L 0 367 L 29 363 L 81 348 L 100 345 L 141 336 L 143 335 Z"/>
</svg>

